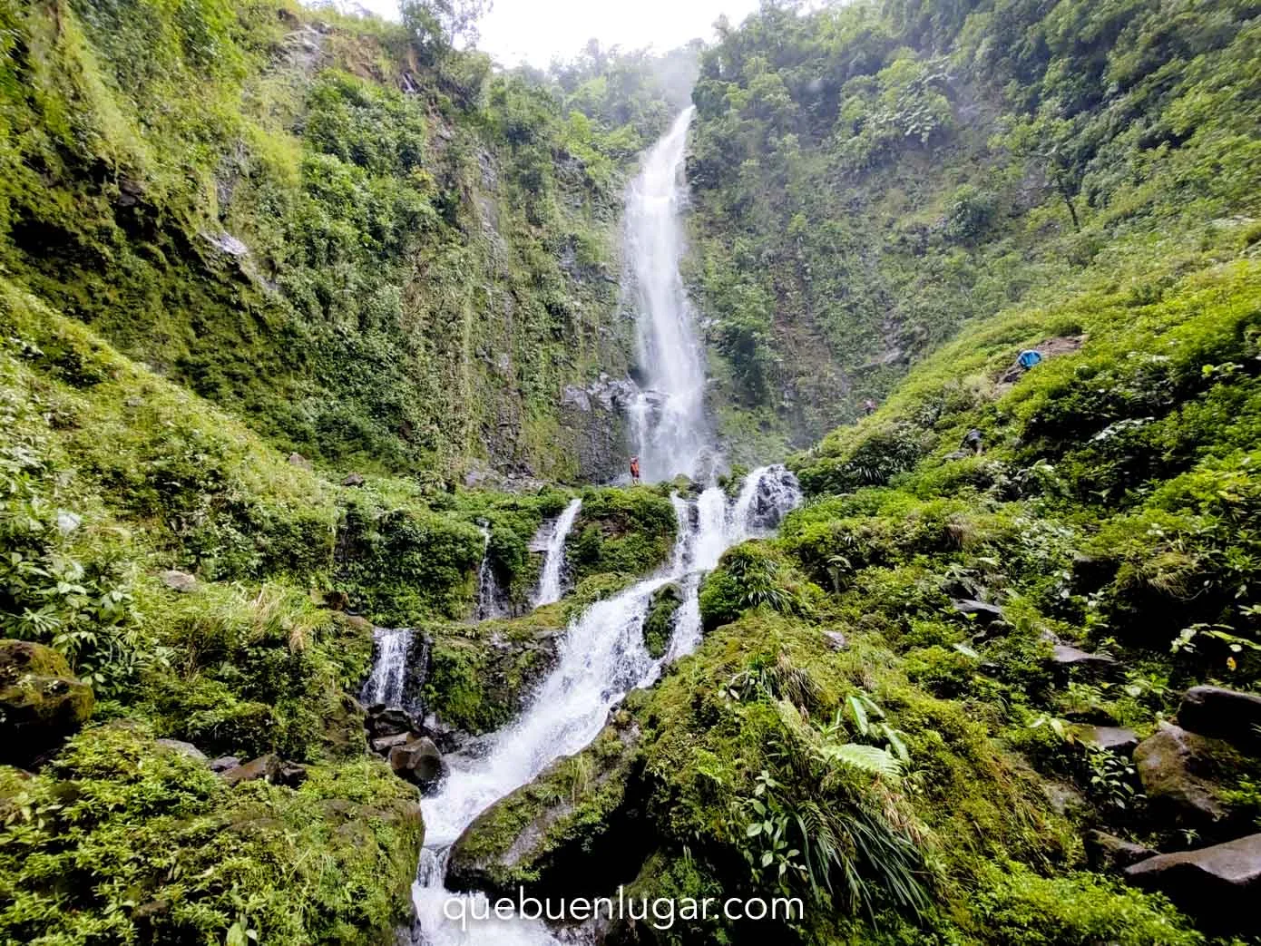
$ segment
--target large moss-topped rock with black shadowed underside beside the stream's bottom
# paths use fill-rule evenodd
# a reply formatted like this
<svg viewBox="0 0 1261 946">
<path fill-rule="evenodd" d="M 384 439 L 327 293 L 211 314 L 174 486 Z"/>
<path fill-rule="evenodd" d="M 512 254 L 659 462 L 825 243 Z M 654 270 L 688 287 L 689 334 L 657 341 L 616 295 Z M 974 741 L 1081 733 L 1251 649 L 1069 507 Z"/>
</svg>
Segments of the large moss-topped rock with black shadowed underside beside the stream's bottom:
<svg viewBox="0 0 1261 946">
<path fill-rule="evenodd" d="M 451 848 L 454 891 L 580 897 L 628 883 L 651 851 L 639 728 L 614 713 L 595 740 L 483 812 Z"/>
</svg>

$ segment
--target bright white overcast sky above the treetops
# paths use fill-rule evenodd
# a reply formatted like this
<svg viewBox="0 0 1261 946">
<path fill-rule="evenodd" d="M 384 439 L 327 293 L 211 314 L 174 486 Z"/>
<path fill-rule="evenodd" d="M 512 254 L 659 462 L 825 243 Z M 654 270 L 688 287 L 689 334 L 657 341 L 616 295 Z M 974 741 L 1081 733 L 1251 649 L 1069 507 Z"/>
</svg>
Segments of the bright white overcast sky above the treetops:
<svg viewBox="0 0 1261 946">
<path fill-rule="evenodd" d="M 382 16 L 397 15 L 397 0 L 358 0 Z M 733 24 L 758 9 L 758 0 L 494 0 L 482 20 L 478 48 L 504 66 L 525 59 L 546 67 L 569 59 L 593 37 L 604 47 L 666 52 L 689 39 L 714 38 L 714 20 Z"/>
</svg>

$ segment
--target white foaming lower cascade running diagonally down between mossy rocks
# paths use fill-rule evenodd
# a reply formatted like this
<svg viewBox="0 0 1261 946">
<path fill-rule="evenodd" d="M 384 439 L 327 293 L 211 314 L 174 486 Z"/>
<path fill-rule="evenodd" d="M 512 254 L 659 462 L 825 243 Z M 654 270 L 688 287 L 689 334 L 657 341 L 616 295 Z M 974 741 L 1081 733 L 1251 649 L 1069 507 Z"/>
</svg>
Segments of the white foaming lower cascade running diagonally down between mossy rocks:
<svg viewBox="0 0 1261 946">
<path fill-rule="evenodd" d="M 455 894 L 444 885 L 450 846 L 482 811 L 556 758 L 588 745 L 627 692 L 652 685 L 666 665 L 690 653 L 701 639 L 697 593 L 704 574 L 726 549 L 768 535 L 799 501 L 796 478 L 781 465 L 750 473 L 734 501 L 719 487 L 705 489 L 695 501 L 676 494 L 678 532 L 668 565 L 593 604 L 569 627 L 555 670 L 521 716 L 475 748 L 448 757 L 449 774 L 438 793 L 421 802 L 425 849 L 412 889 L 419 942 L 543 946 L 575 941 L 559 937 L 580 936 L 580 931 L 554 932 L 538 921 L 493 914 L 479 920 L 487 916 L 483 894 Z M 671 581 L 678 584 L 683 602 L 666 652 L 653 658 L 643 643 L 643 621 L 653 592 Z M 373 671 L 373 680 L 376 676 Z M 468 901 L 458 904 L 462 909 L 449 906 L 456 898 Z M 454 918 L 460 916 L 467 921 Z"/>
</svg>

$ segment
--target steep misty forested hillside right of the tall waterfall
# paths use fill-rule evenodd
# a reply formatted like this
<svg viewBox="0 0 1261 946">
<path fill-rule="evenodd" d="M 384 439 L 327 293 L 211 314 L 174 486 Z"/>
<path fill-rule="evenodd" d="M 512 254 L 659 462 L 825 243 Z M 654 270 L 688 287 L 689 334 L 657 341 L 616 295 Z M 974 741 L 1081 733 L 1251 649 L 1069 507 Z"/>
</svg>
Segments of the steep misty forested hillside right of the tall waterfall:
<svg viewBox="0 0 1261 946">
<path fill-rule="evenodd" d="M 970 320 L 1237 252 L 1261 192 L 1258 14 L 889 0 L 724 30 L 689 175 L 729 435 L 806 445 Z"/>
</svg>

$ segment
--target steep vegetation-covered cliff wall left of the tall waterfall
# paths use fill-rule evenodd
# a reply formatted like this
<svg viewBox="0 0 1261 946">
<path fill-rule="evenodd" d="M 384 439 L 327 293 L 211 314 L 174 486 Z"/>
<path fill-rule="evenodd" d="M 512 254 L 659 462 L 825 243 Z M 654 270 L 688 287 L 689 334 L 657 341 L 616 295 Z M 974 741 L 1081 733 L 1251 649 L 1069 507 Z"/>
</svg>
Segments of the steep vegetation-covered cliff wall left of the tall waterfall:
<svg viewBox="0 0 1261 946">
<path fill-rule="evenodd" d="M 285 4 L 6 6 L 0 257 L 329 463 L 588 478 L 622 377 L 617 168 L 554 97 Z M 605 164 L 608 160 L 605 159 Z M 588 450 L 590 453 L 590 450 Z"/>
</svg>

